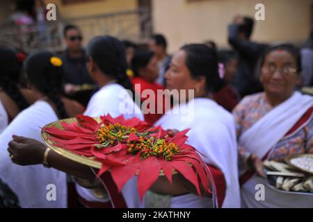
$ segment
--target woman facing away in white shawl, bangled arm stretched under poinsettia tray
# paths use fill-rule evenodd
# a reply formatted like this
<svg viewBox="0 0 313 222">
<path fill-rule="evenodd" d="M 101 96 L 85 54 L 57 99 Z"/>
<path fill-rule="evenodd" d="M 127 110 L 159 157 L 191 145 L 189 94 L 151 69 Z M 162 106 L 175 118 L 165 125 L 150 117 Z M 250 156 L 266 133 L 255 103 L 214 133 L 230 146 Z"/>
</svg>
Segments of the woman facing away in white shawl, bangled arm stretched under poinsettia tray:
<svg viewBox="0 0 313 222">
<path fill-rule="evenodd" d="M 125 119 L 137 117 L 143 120 L 143 114 L 140 108 L 134 103 L 129 91 L 126 90 L 129 89 L 131 91 L 132 85 L 126 75 L 127 66 L 125 50 L 122 43 L 110 36 L 95 37 L 88 44 L 87 54 L 87 68 L 90 77 L 99 85 L 100 89 L 90 99 L 84 114 L 90 117 L 99 117 L 104 114 L 110 114 L 111 117 L 118 117 L 122 114 Z M 27 153 L 23 153 L 21 156 L 22 160 L 17 161 L 19 164 L 21 164 L 21 162 L 24 162 L 23 164 L 26 165 L 33 164 L 29 163 L 28 157 L 31 156 L 32 153 L 46 150 L 45 145 L 35 142 L 35 140 L 17 138 L 15 141 L 27 145 L 27 148 L 25 148 L 25 151 L 27 149 Z M 39 164 L 42 162 L 42 158 L 38 158 L 35 162 Z M 85 180 L 95 180 L 94 171 L 89 167 L 67 160 L 54 151 L 50 151 L 48 162 L 51 167 L 70 173 L 77 178 L 83 178 L 84 180 L 78 179 L 78 181 L 79 184 L 83 184 L 84 187 L 102 187 L 102 185 L 99 186 L 99 183 L 97 185 L 99 180 L 96 180 L 96 183 L 86 183 Z M 93 189 L 86 189 L 77 185 L 77 191 L 80 196 L 79 200 L 81 200 L 81 203 L 86 207 L 109 207 L 106 203 L 110 201 L 110 198 L 103 194 L 103 190 L 101 198 L 95 196 Z M 127 207 L 139 206 L 136 180 L 134 178 L 127 182 L 127 186 L 122 189 L 122 193 L 124 194 Z M 115 207 L 113 200 L 112 202 L 113 207 Z"/>
</svg>

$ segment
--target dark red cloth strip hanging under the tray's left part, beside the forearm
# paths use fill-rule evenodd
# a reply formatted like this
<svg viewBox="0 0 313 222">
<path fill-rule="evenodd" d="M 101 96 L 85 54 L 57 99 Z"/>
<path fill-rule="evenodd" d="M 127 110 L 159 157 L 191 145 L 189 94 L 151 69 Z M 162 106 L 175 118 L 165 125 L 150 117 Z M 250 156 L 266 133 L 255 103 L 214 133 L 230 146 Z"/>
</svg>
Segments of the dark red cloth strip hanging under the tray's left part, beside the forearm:
<svg viewBox="0 0 313 222">
<path fill-rule="evenodd" d="M 100 179 L 110 194 L 112 208 L 127 208 L 125 199 L 122 196 L 122 193 L 118 192 L 118 187 L 115 185 L 111 173 L 106 171 L 106 173 L 102 174 Z"/>
</svg>

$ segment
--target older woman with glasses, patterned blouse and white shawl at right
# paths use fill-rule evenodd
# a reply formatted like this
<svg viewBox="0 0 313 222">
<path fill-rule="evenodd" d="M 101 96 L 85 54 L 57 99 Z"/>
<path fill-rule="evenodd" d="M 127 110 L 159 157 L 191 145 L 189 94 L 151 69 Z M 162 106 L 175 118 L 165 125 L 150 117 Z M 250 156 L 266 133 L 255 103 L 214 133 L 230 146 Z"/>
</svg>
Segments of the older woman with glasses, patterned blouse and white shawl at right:
<svg viewBox="0 0 313 222">
<path fill-rule="evenodd" d="M 280 162 L 289 155 L 313 153 L 313 97 L 294 92 L 301 70 L 299 51 L 290 44 L 271 46 L 260 67 L 264 92 L 247 96 L 233 111 L 243 207 L 312 208 L 311 196 L 268 187 L 262 165 L 264 160 Z M 257 185 L 264 185 L 264 200 L 255 198 Z"/>
</svg>

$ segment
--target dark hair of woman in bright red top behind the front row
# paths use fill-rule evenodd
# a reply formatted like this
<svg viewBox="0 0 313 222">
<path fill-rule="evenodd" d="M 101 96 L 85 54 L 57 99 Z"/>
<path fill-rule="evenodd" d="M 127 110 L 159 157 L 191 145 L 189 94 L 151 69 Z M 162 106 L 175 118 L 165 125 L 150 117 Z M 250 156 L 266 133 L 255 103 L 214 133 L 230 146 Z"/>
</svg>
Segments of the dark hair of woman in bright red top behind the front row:
<svg viewBox="0 0 313 222">
<path fill-rule="evenodd" d="M 152 51 L 136 51 L 134 57 L 131 59 L 131 69 L 134 72 L 134 76 L 139 76 L 138 70 L 145 68 L 151 58 L 154 56 Z"/>
</svg>

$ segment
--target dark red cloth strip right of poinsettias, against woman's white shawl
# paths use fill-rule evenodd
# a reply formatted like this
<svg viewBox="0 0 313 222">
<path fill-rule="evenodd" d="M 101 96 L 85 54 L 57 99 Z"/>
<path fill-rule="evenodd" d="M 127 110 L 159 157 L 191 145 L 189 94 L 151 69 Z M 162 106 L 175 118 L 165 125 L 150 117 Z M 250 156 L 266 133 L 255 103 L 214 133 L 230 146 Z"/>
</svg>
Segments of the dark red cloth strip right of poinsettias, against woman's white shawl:
<svg viewBox="0 0 313 222">
<path fill-rule="evenodd" d="M 214 178 L 216 196 L 218 198 L 218 208 L 220 208 L 223 205 L 226 195 L 226 180 L 222 171 L 211 165 L 207 165 L 207 167 L 209 167 L 209 170 Z"/>
</svg>

